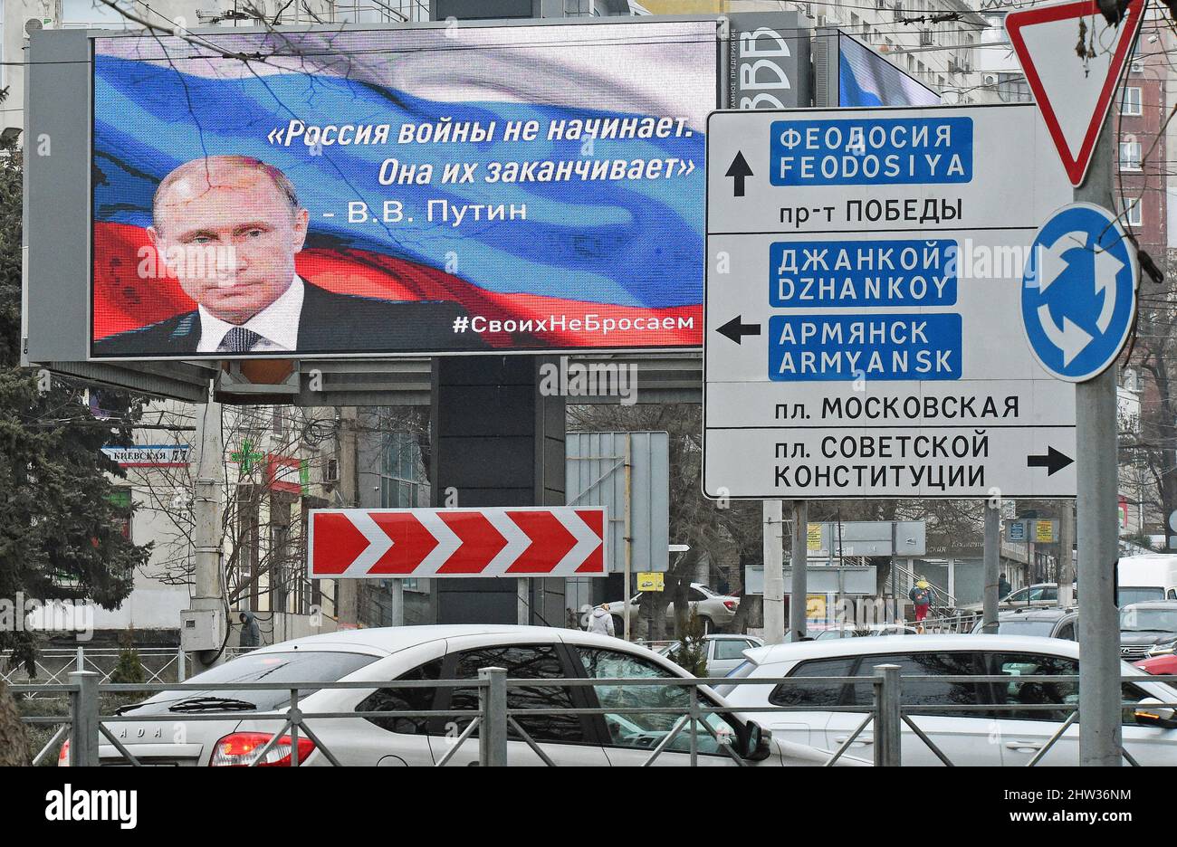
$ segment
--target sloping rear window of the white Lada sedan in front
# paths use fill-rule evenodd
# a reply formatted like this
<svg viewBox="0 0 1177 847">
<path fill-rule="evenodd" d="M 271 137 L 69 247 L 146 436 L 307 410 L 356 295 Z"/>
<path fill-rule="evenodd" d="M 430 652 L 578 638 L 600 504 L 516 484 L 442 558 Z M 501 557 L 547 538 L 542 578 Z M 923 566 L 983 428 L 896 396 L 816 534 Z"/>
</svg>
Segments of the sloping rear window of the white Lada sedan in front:
<svg viewBox="0 0 1177 847">
<path fill-rule="evenodd" d="M 240 700 L 254 705 L 254 711 L 268 712 L 290 703 L 290 691 L 280 688 L 266 691 L 208 691 L 202 685 L 232 682 L 338 682 L 344 676 L 371 665 L 377 656 L 361 653 L 337 653 L 333 651 L 290 651 L 282 653 L 248 653 L 224 665 L 205 671 L 187 680 L 182 691 L 160 692 L 138 706 L 128 706 L 124 714 L 146 716 L 173 714 L 173 706 L 194 698 L 219 698 Z M 300 696 L 317 691 L 300 688 Z M 181 706 L 182 708 L 182 706 Z M 215 703 L 202 711 L 215 712 Z M 246 709 L 234 708 L 233 712 Z"/>
</svg>

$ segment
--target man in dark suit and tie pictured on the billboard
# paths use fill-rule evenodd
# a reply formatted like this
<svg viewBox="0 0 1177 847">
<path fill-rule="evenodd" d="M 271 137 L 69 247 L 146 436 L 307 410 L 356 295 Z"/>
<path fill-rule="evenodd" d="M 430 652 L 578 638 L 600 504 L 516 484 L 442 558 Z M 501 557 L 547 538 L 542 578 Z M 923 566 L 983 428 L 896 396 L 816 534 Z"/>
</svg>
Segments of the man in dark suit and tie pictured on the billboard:
<svg viewBox="0 0 1177 847">
<path fill-rule="evenodd" d="M 97 355 L 174 356 L 265 353 L 379 353 L 481 348 L 455 334 L 465 309 L 452 302 L 338 294 L 304 280 L 294 256 L 310 213 L 272 165 L 215 155 L 160 180 L 151 242 L 197 308 L 94 342 Z"/>
</svg>

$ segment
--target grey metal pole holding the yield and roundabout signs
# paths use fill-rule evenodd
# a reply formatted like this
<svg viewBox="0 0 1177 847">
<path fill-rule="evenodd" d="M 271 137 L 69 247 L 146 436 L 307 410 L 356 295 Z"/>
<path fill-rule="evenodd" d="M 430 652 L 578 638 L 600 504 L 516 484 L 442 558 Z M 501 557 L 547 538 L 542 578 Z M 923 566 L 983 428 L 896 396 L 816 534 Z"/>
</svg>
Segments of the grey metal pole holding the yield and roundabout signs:
<svg viewBox="0 0 1177 847">
<path fill-rule="evenodd" d="M 1076 201 L 1113 207 L 1116 146 L 1104 124 L 1086 180 Z M 1117 538 L 1116 366 L 1076 386 L 1078 451 L 1077 538 L 1079 551 L 1079 763 L 1121 762 L 1119 632 L 1115 601 Z"/>
</svg>

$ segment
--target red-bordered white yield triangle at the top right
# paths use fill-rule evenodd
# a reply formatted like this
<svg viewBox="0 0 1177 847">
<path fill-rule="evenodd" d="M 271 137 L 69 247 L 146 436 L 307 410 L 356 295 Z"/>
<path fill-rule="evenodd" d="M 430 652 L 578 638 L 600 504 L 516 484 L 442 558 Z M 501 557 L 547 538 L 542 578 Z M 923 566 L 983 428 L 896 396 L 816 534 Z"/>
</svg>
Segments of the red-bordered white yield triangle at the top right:
<svg viewBox="0 0 1177 847">
<path fill-rule="evenodd" d="M 1116 86 L 1144 21 L 1146 0 L 1131 0 L 1110 26 L 1096 0 L 1038 6 L 1005 16 L 1005 31 L 1071 185 L 1083 184 Z M 1083 28 L 1080 31 L 1080 21 Z M 1080 59 L 1080 41 L 1095 56 Z"/>
</svg>

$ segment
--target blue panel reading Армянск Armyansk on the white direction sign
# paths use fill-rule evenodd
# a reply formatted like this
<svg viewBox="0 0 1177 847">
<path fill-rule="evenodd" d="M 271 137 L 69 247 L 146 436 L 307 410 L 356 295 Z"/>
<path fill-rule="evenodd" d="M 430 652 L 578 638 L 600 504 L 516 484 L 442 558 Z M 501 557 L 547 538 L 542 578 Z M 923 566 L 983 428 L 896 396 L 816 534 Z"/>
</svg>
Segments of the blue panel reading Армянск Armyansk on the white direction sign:
<svg viewBox="0 0 1177 847">
<path fill-rule="evenodd" d="M 960 379 L 960 315 L 773 315 L 769 379 Z"/>
</svg>

